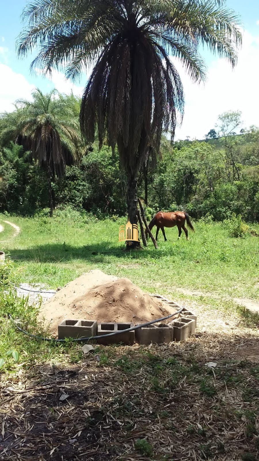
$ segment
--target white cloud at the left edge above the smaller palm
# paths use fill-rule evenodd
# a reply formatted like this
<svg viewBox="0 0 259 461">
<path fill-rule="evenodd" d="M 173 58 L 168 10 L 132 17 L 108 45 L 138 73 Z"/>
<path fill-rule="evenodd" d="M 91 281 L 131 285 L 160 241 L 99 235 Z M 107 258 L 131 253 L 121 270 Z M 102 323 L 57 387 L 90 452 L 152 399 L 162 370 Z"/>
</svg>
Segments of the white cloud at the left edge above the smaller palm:
<svg viewBox="0 0 259 461">
<path fill-rule="evenodd" d="M 19 98 L 31 99 L 31 85 L 22 74 L 0 63 L 0 112 L 14 110 L 13 103 Z"/>
</svg>

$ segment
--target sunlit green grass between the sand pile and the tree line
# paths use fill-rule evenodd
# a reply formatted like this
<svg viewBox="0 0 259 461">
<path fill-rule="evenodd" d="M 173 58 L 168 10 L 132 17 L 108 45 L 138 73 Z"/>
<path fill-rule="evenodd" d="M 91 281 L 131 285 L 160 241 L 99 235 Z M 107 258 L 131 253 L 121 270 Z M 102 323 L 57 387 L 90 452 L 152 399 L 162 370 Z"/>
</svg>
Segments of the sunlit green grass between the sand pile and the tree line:
<svg viewBox="0 0 259 461">
<path fill-rule="evenodd" d="M 0 215 L 0 224 L 2 219 Z M 194 223 L 189 241 L 183 235 L 178 240 L 176 228 L 166 229 L 168 240 L 164 242 L 160 232 L 158 250 L 149 240 L 147 248 L 126 252 L 118 242 L 118 228 L 125 219 L 94 221 L 73 211 L 56 213 L 53 219 L 6 219 L 21 228 L 15 238 L 10 228 L 1 244 L 15 262 L 18 282 L 57 288 L 98 268 L 129 277 L 147 291 L 168 294 L 177 286 L 220 296 L 258 297 L 258 237 L 231 238 L 220 223 Z"/>
</svg>

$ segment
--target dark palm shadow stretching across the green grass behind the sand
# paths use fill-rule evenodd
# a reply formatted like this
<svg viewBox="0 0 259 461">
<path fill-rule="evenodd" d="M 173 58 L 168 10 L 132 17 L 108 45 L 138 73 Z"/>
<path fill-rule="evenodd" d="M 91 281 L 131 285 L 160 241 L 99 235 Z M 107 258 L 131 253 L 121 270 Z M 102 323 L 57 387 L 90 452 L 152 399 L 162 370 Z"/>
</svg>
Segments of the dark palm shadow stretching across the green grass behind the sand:
<svg viewBox="0 0 259 461">
<path fill-rule="evenodd" d="M 163 244 L 159 249 L 152 248 L 151 242 L 147 248 L 139 250 L 126 250 L 126 245 L 120 246 L 110 242 L 94 243 L 75 247 L 66 243 L 53 243 L 51 245 L 37 245 L 33 248 L 12 249 L 10 257 L 13 260 L 33 260 L 37 262 L 61 262 L 71 260 L 85 260 L 90 262 L 101 262 L 103 256 L 113 256 L 116 258 L 146 259 L 159 258 L 159 256 L 168 256 L 178 254 L 179 242 Z"/>
</svg>

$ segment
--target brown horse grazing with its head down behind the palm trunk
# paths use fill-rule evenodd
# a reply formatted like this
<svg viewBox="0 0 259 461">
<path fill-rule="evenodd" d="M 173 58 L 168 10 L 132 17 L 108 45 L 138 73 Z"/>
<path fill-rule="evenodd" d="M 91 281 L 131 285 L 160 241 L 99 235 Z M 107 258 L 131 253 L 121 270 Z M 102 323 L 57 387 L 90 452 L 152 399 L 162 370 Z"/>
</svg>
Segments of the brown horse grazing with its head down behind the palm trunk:
<svg viewBox="0 0 259 461">
<path fill-rule="evenodd" d="M 186 235 L 186 239 L 188 240 L 188 231 L 185 227 L 185 219 L 186 219 L 188 228 L 194 232 L 194 228 L 191 224 L 188 213 L 182 213 L 182 211 L 175 211 L 174 213 L 164 213 L 163 211 L 159 211 L 157 214 L 155 214 L 153 219 L 151 219 L 148 225 L 148 228 L 151 231 L 151 229 L 156 225 L 157 226 L 156 240 L 158 237 L 159 229 L 161 229 L 161 231 L 163 232 L 163 236 L 165 238 L 165 242 L 166 242 L 164 227 L 177 226 L 178 232 L 179 232 L 178 238 L 180 238 L 182 234 L 182 229 L 183 229 Z M 147 231 L 146 231 L 146 235 L 147 235 Z"/>
</svg>

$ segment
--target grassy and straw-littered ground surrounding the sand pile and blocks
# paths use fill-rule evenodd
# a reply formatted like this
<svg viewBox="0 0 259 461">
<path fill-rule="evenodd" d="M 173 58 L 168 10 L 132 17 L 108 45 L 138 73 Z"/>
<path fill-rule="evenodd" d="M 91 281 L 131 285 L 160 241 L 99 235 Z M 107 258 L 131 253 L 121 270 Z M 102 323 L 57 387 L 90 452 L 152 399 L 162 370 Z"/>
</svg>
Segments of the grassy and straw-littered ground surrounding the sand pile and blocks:
<svg viewBox="0 0 259 461">
<path fill-rule="evenodd" d="M 20 227 L 18 236 L 4 220 Z M 13 261 L 0 272 L 0 459 L 259 459 L 259 322 L 234 300 L 258 299 L 258 237 L 230 238 L 224 225 L 200 221 L 188 242 L 168 229 L 158 250 L 149 241 L 126 252 L 118 242 L 124 222 L 72 210 L 53 219 L 0 216 L 0 249 Z M 195 336 L 151 347 L 94 345 L 84 356 L 70 341 L 28 339 L 7 319 L 42 333 L 37 308 L 17 298 L 9 280 L 57 288 L 94 268 L 194 307 Z"/>
</svg>

